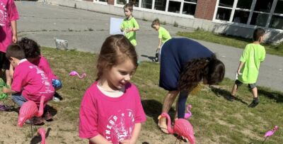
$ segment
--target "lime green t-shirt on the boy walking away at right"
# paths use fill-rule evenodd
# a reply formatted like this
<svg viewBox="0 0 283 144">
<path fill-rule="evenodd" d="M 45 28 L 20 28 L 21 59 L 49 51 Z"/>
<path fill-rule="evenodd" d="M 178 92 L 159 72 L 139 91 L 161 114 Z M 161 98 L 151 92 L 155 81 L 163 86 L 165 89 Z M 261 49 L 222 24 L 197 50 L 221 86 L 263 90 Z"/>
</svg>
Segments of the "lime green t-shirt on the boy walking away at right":
<svg viewBox="0 0 283 144">
<path fill-rule="evenodd" d="M 262 45 L 250 43 L 246 45 L 240 61 L 245 62 L 238 80 L 245 84 L 253 84 L 258 79 L 260 62 L 265 60 L 265 48 Z"/>
</svg>

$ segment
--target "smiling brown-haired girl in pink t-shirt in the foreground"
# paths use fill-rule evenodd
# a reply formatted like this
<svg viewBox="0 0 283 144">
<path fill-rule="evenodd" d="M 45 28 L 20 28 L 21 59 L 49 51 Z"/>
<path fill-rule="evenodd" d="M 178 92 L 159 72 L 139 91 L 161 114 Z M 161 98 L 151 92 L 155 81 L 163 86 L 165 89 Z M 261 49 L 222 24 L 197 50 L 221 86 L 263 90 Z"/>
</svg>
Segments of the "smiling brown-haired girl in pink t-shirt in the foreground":
<svg viewBox="0 0 283 144">
<path fill-rule="evenodd" d="M 146 121 L 137 87 L 130 83 L 137 52 L 124 35 L 106 38 L 97 62 L 97 79 L 86 90 L 79 113 L 79 137 L 89 143 L 136 143 Z"/>
</svg>

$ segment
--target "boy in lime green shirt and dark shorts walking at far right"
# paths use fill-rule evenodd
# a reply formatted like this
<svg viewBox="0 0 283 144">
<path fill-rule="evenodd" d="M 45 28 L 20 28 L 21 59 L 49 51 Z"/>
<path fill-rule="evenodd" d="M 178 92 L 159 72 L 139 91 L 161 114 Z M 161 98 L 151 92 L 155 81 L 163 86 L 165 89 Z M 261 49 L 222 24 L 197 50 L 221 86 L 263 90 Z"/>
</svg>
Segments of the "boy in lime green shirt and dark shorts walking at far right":
<svg viewBox="0 0 283 144">
<path fill-rule="evenodd" d="M 233 86 L 231 96 L 229 96 L 229 101 L 233 101 L 233 99 L 235 99 L 238 87 L 244 83 L 248 84 L 253 92 L 253 102 L 249 105 L 249 107 L 255 107 L 258 105 L 258 89 L 255 82 L 258 79 L 260 62 L 265 60 L 265 48 L 260 45 L 263 41 L 264 35 L 265 30 L 262 28 L 256 28 L 253 32 L 253 43 L 246 45 L 245 50 L 243 50 L 243 55 L 241 55 L 240 64 L 236 74 L 238 77 L 236 77 L 236 82 Z"/>
</svg>

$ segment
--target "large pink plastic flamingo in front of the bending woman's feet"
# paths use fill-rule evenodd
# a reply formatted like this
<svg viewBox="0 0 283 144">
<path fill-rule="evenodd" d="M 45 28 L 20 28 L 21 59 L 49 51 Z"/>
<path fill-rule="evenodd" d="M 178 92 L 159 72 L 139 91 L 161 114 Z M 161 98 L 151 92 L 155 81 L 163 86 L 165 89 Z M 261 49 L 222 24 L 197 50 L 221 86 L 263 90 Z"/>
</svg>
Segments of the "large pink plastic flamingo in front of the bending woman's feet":
<svg viewBox="0 0 283 144">
<path fill-rule="evenodd" d="M 177 120 L 175 120 L 175 124 L 172 128 L 171 118 L 168 115 L 168 113 L 161 113 L 161 115 L 158 116 L 158 120 L 160 121 L 161 118 L 167 118 L 168 133 L 170 134 L 176 133 L 178 135 L 178 139 L 180 139 L 180 137 L 184 137 L 187 138 L 187 140 L 189 140 L 190 144 L 195 144 L 194 129 L 192 128 L 192 125 L 190 124 L 189 121 L 185 120 L 184 118 L 178 118 Z"/>
</svg>

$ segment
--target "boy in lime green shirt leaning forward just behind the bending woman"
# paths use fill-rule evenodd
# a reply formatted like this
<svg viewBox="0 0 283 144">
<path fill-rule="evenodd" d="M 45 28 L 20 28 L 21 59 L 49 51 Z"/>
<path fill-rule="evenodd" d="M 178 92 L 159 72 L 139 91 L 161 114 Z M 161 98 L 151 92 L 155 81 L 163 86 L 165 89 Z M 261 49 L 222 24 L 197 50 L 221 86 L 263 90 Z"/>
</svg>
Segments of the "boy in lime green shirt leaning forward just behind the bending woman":
<svg viewBox="0 0 283 144">
<path fill-rule="evenodd" d="M 156 50 L 156 62 L 158 62 L 158 56 L 160 49 L 164 43 L 166 43 L 167 40 L 171 39 L 170 33 L 163 27 L 160 26 L 160 22 L 158 18 L 156 18 L 152 23 L 151 23 L 151 28 L 154 28 L 156 31 L 158 31 L 158 48 Z"/>
</svg>

